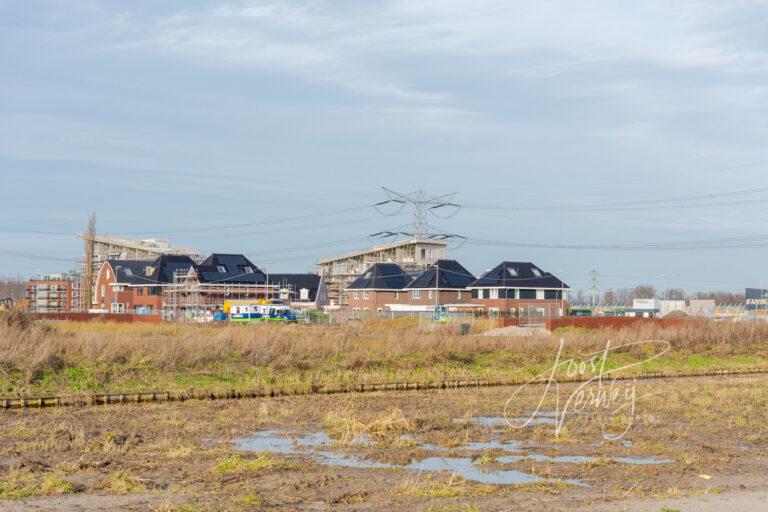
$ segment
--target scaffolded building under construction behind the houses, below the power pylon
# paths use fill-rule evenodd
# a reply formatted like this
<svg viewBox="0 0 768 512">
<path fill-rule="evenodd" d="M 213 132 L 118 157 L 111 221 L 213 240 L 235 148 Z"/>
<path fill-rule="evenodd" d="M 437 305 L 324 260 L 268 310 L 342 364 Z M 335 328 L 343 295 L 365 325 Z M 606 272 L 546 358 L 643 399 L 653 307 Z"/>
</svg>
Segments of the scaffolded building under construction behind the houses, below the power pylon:
<svg viewBox="0 0 768 512">
<path fill-rule="evenodd" d="M 325 281 L 331 305 L 346 305 L 344 289 L 374 263 L 395 263 L 403 270 L 424 270 L 443 259 L 448 242 L 411 238 L 317 261 L 317 272 Z"/>
</svg>

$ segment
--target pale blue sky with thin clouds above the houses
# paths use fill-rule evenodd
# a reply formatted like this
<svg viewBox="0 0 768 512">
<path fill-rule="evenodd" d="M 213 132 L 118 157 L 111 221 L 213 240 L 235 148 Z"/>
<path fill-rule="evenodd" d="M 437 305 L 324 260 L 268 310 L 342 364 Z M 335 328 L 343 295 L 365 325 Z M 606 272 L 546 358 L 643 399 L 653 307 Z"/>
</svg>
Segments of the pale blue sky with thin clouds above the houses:
<svg viewBox="0 0 768 512">
<path fill-rule="evenodd" d="M 768 4 L 0 0 L 0 276 L 75 233 L 280 272 L 411 222 L 480 273 L 768 284 Z M 696 241 L 696 243 L 692 243 Z"/>
</svg>

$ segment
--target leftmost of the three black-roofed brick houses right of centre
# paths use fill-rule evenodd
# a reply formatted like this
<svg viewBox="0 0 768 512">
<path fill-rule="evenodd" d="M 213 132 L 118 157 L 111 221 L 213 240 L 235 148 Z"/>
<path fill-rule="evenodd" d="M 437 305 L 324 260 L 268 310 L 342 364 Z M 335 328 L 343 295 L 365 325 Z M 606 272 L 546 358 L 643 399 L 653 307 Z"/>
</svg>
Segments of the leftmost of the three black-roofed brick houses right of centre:
<svg viewBox="0 0 768 512">
<path fill-rule="evenodd" d="M 384 311 L 387 304 L 407 304 L 405 287 L 414 276 L 395 263 L 374 263 L 345 289 L 352 311 Z"/>
</svg>

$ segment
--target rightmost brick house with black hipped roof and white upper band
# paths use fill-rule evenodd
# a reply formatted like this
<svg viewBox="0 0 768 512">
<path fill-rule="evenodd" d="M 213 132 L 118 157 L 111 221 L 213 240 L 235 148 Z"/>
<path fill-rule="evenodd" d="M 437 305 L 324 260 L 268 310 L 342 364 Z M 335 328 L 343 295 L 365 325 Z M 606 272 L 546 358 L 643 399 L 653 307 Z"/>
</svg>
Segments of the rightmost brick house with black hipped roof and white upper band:
<svg viewBox="0 0 768 512">
<path fill-rule="evenodd" d="M 469 285 L 472 301 L 489 313 L 560 316 L 570 287 L 531 262 L 503 261 Z"/>
</svg>

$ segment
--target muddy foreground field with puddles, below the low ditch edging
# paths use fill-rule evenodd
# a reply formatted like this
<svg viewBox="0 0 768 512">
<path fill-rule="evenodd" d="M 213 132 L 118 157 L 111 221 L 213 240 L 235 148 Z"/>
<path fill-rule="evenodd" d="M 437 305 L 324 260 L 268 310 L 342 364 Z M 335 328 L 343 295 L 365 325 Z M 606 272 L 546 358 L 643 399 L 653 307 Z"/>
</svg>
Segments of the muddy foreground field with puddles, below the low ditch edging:
<svg viewBox="0 0 768 512">
<path fill-rule="evenodd" d="M 545 389 L 6 411 L 0 509 L 766 509 L 768 378 Z"/>
</svg>

